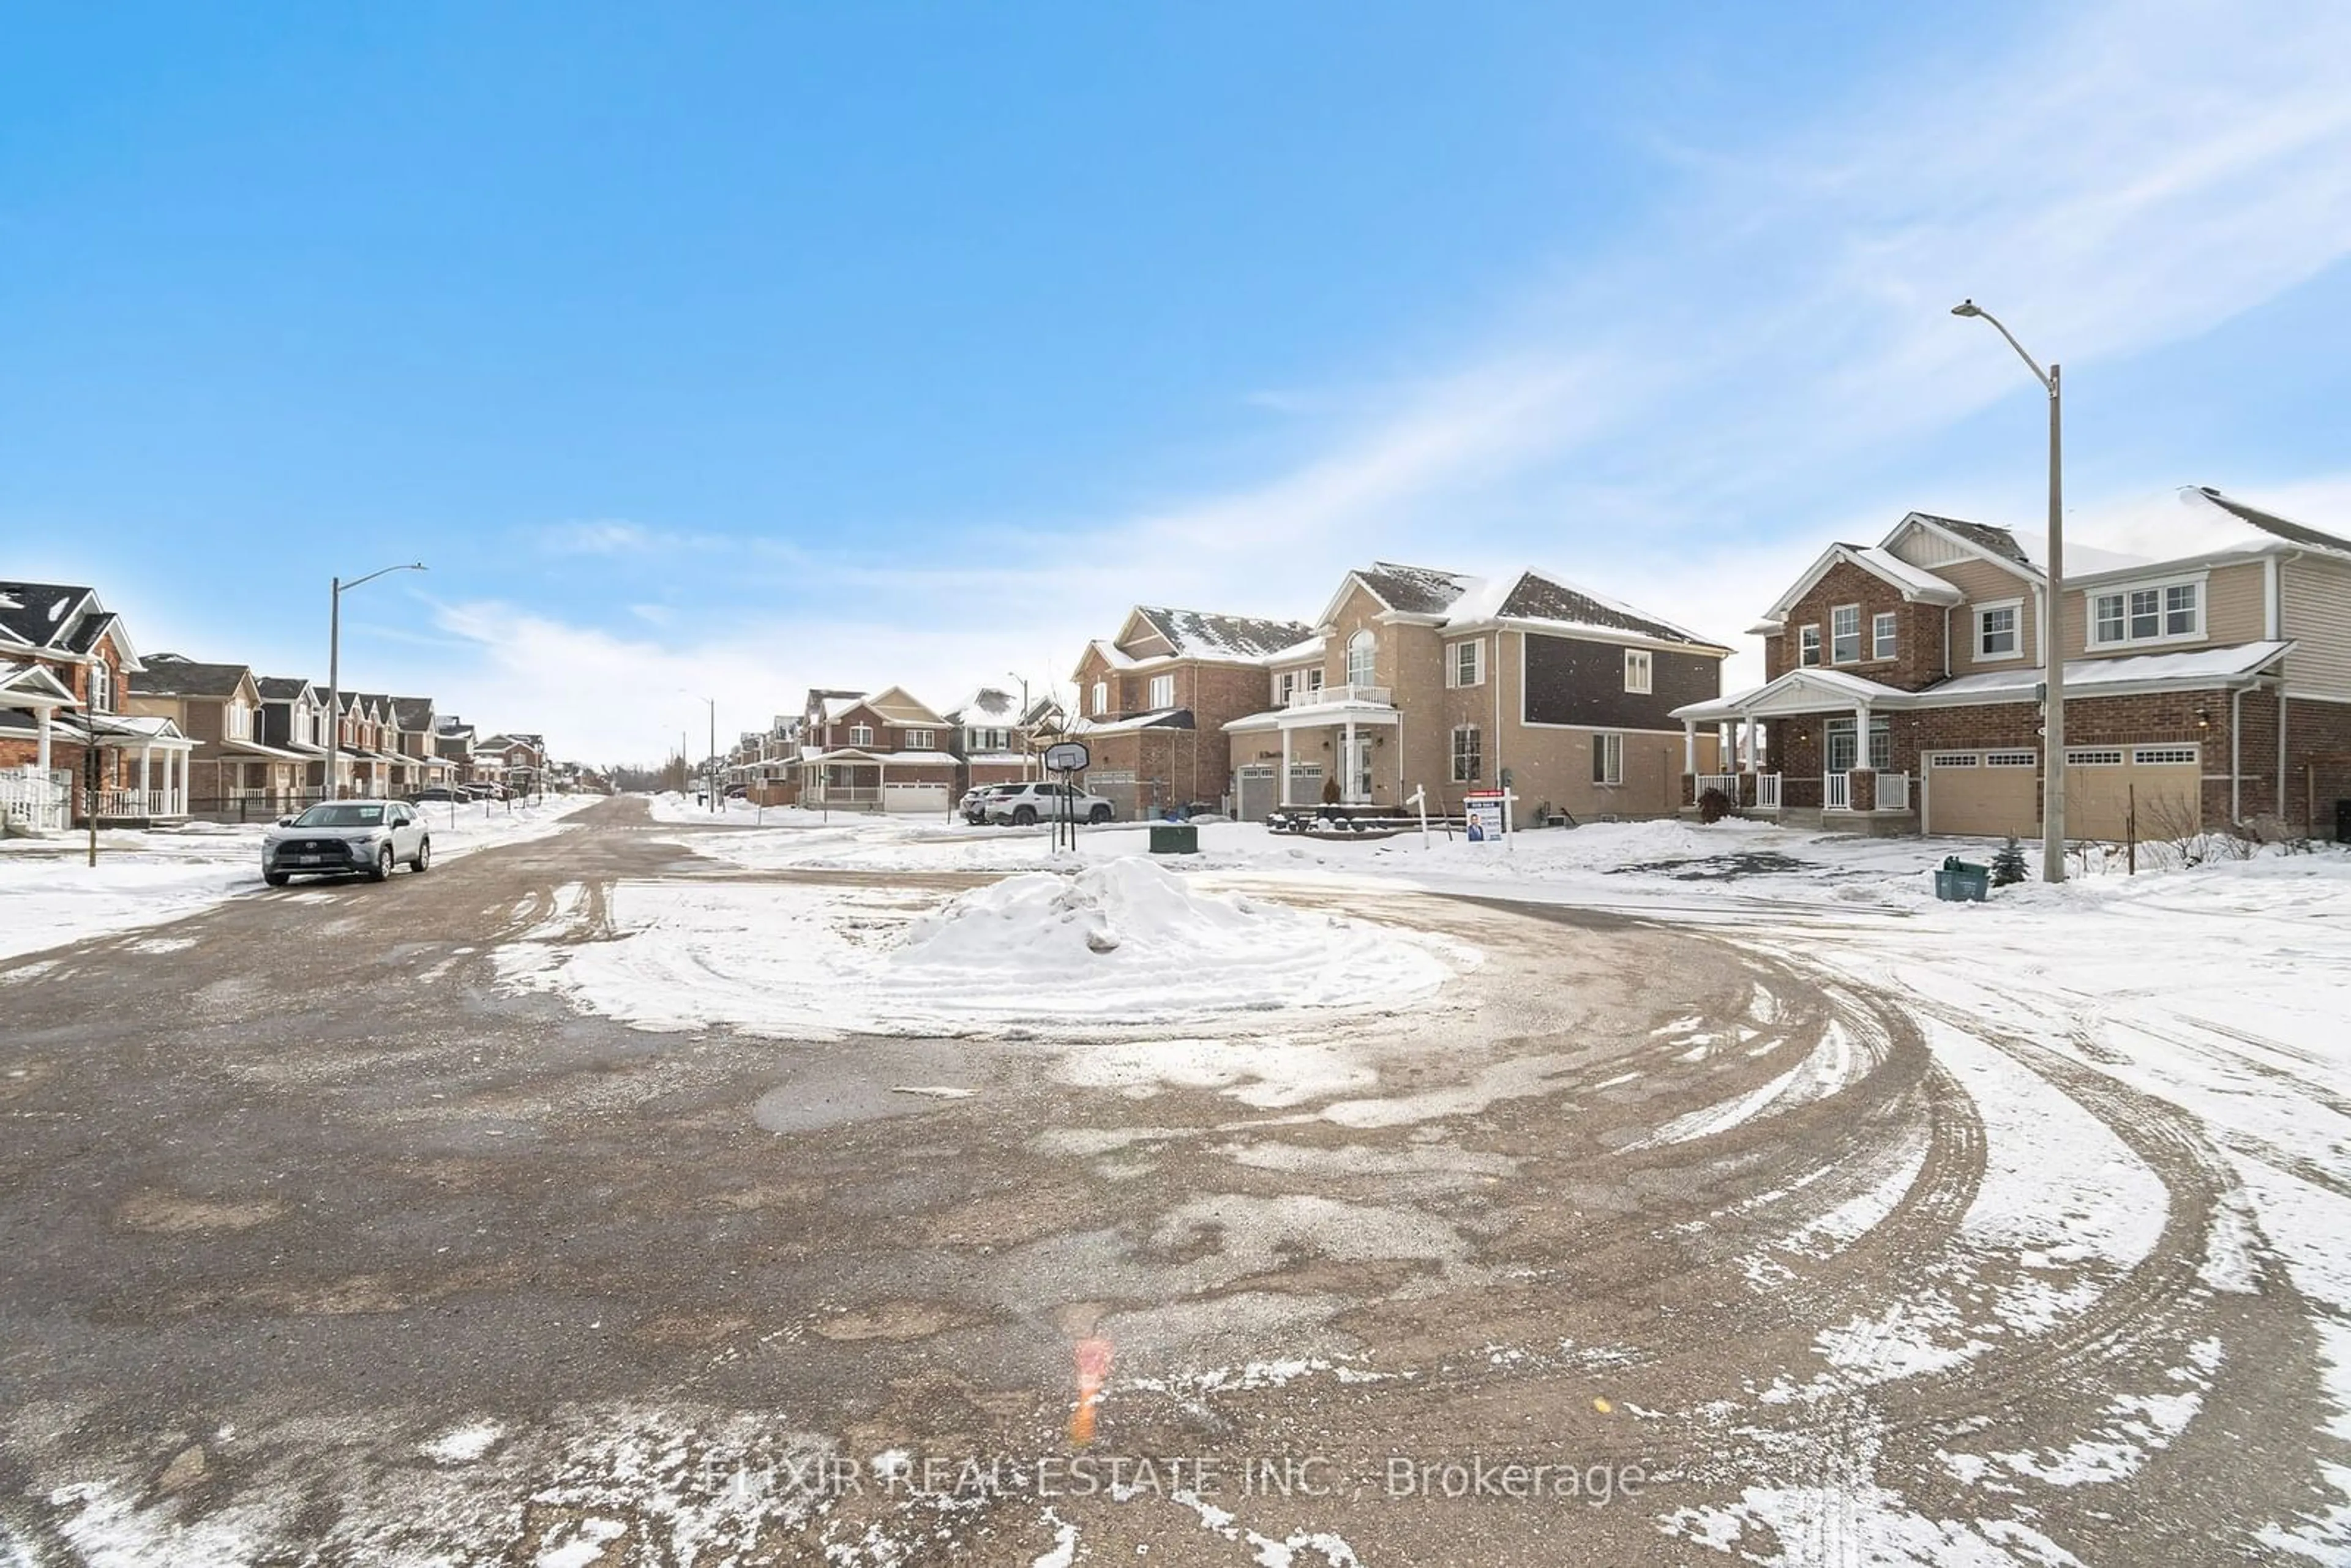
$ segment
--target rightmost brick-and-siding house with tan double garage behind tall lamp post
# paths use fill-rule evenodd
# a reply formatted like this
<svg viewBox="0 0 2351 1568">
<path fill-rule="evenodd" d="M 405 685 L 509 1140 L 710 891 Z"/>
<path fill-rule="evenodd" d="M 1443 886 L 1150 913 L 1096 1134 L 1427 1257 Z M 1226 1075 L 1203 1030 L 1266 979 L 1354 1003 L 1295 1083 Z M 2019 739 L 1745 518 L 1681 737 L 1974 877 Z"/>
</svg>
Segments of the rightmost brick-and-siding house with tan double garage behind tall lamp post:
<svg viewBox="0 0 2351 1568">
<path fill-rule="evenodd" d="M 2067 835 L 2172 837 L 2351 797 L 2351 541 L 2191 491 L 2212 548 L 2067 548 Z M 1766 684 L 1676 712 L 1735 726 L 1690 792 L 1864 832 L 2041 832 L 2048 578 L 2008 529 L 1911 512 L 1829 545 L 1770 607 Z M 1763 757 L 1768 762 L 1756 764 Z"/>
</svg>

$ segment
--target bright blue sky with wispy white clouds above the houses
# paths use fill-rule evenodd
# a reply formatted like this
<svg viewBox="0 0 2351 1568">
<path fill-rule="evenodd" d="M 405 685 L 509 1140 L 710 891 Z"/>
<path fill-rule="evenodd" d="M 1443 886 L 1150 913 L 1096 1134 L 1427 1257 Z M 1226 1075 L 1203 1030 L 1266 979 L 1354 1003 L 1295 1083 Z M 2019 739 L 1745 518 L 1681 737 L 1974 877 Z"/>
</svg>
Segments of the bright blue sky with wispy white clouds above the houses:
<svg viewBox="0 0 2351 1568">
<path fill-rule="evenodd" d="M 1126 604 L 2351 527 L 2351 9 L 19 7 L 0 576 L 651 757 Z M 1742 642 L 1744 646 L 1744 642 Z M 1737 672 L 1751 668 L 1742 661 Z"/>
</svg>

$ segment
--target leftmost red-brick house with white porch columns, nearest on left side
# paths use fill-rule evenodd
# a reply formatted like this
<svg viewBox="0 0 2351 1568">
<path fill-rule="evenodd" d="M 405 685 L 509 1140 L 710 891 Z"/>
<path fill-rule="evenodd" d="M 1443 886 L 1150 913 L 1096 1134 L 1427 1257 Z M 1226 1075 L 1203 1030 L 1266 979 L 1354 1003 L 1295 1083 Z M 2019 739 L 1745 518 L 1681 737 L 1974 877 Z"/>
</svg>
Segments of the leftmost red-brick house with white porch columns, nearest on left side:
<svg viewBox="0 0 2351 1568">
<path fill-rule="evenodd" d="M 33 827 L 172 820 L 195 743 L 125 712 L 141 670 L 122 616 L 71 583 L 0 583 L 0 813 Z"/>
</svg>

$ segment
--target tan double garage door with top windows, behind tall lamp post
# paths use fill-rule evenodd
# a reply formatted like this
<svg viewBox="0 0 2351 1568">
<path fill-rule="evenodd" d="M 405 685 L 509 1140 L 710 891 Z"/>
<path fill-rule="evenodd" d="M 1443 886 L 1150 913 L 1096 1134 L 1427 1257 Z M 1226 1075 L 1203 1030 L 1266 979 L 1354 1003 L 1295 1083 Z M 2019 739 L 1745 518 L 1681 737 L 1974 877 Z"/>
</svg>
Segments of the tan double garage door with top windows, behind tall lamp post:
<svg viewBox="0 0 2351 1568">
<path fill-rule="evenodd" d="M 1977 837 L 2038 835 L 2038 752 L 1928 752 L 1921 827 Z M 2196 745 L 2067 748 L 2069 839 L 2196 832 L 2201 802 L 2203 750 Z"/>
</svg>

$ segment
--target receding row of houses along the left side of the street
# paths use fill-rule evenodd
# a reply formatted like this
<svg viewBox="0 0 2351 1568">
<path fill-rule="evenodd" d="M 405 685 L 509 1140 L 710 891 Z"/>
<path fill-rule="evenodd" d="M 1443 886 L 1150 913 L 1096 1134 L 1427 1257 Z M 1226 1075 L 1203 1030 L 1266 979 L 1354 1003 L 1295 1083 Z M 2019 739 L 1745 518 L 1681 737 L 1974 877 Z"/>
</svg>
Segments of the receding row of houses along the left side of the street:
<svg viewBox="0 0 2351 1568">
<path fill-rule="evenodd" d="M 0 816 L 19 827 L 266 820 L 329 795 L 562 788 L 536 733 L 482 736 L 433 698 L 334 693 L 240 663 L 141 654 L 92 588 L 0 581 Z"/>
</svg>

